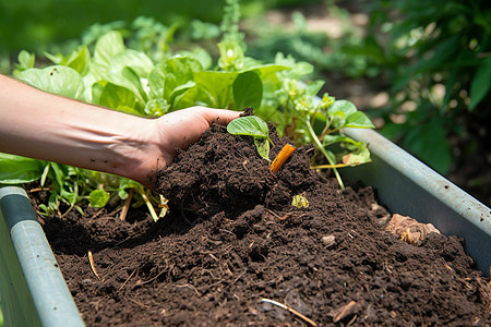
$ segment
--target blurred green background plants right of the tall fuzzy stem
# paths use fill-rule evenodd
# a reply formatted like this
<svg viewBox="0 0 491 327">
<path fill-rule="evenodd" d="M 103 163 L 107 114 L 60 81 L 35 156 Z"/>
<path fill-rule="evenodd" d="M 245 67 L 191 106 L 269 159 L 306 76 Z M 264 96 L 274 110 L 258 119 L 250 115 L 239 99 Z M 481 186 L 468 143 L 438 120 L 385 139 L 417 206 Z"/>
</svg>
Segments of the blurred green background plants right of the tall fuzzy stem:
<svg viewBox="0 0 491 327">
<path fill-rule="evenodd" d="M 336 20 L 339 35 L 330 35 L 327 24 L 325 31 L 309 29 L 308 20 L 300 11 L 291 13 L 292 28 L 267 23 L 262 15 L 250 19 L 248 55 L 274 60 L 280 51 L 313 64 L 316 74 L 336 72 L 347 77 L 374 76 L 379 70 L 369 65 L 364 53 L 358 51 L 363 39 L 350 22 L 349 12 L 335 1 L 325 1 L 325 10 Z"/>
</svg>

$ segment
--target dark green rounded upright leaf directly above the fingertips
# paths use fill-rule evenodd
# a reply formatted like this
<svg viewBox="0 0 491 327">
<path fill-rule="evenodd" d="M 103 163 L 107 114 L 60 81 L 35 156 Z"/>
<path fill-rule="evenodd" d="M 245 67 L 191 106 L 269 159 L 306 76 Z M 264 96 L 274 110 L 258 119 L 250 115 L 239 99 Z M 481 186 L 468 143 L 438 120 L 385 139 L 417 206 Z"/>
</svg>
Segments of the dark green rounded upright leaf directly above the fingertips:
<svg viewBox="0 0 491 327">
<path fill-rule="evenodd" d="M 249 71 L 239 74 L 233 81 L 233 102 L 236 109 L 259 108 L 263 97 L 263 83 L 260 76 Z"/>
</svg>

